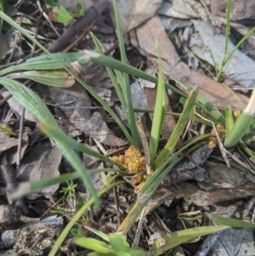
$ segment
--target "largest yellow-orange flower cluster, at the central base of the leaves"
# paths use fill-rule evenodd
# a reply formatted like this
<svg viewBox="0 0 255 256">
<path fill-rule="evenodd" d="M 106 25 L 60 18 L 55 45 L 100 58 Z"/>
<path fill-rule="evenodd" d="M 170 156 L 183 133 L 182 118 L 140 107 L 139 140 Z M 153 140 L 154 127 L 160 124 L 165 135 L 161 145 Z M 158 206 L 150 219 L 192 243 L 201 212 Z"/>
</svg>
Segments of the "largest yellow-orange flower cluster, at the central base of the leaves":
<svg viewBox="0 0 255 256">
<path fill-rule="evenodd" d="M 132 179 L 134 184 L 140 183 L 141 185 L 146 179 L 146 177 L 143 175 L 144 171 L 146 170 L 145 156 L 142 156 L 141 152 L 133 145 L 131 145 L 127 151 L 125 151 L 125 155 L 113 156 L 112 160 L 127 168 L 130 174 L 136 174 Z"/>
</svg>

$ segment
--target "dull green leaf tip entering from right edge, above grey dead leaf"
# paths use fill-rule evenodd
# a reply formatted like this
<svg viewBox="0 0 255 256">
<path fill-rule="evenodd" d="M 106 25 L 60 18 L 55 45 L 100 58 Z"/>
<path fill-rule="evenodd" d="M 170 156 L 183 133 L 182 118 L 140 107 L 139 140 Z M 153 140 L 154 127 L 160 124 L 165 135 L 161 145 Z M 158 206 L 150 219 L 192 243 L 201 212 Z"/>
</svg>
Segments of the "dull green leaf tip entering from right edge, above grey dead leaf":
<svg viewBox="0 0 255 256">
<path fill-rule="evenodd" d="M 207 213 L 212 221 L 217 222 L 218 224 L 228 225 L 233 228 L 243 228 L 243 229 L 254 229 L 255 224 L 252 222 L 243 221 L 240 219 L 231 219 L 225 218 L 223 216 L 218 216 L 217 214 Z"/>
</svg>

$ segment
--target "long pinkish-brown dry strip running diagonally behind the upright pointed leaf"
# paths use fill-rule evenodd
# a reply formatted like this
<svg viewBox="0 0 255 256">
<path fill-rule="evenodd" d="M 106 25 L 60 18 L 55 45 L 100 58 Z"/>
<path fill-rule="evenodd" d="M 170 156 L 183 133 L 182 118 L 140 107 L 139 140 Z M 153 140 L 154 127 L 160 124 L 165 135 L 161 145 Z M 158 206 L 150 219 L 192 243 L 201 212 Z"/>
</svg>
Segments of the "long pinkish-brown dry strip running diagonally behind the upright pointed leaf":
<svg viewBox="0 0 255 256">
<path fill-rule="evenodd" d="M 136 31 L 140 48 L 142 48 L 148 59 L 155 65 L 157 65 L 155 42 L 157 41 L 159 43 L 164 72 L 187 83 L 191 87 L 200 83 L 201 94 L 204 94 L 208 100 L 212 101 L 212 104 L 219 110 L 224 110 L 226 105 L 231 106 L 235 110 L 241 110 L 242 106 L 236 101 L 235 97 L 227 88 L 224 88 L 220 83 L 215 82 L 209 77 L 205 77 L 190 70 L 188 65 L 180 61 L 173 43 L 171 43 L 168 38 L 167 33 L 157 16 L 148 20 L 144 25 L 139 26 Z M 181 89 L 184 90 L 183 88 Z M 238 94 L 238 96 L 245 104 L 248 102 L 246 96 L 241 94 Z"/>
</svg>

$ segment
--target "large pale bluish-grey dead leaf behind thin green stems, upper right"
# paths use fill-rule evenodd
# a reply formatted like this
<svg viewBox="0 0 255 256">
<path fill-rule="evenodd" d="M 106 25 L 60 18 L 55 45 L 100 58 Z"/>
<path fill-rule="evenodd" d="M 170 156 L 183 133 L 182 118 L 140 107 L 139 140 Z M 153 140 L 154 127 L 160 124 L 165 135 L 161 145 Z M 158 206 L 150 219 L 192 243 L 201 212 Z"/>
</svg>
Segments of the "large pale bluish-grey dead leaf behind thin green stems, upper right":
<svg viewBox="0 0 255 256">
<path fill-rule="evenodd" d="M 216 65 L 219 68 L 224 56 L 225 36 L 223 34 L 215 34 L 215 27 L 209 21 L 191 21 L 194 24 L 195 33 L 190 37 L 190 49 L 201 60 L 205 60 L 210 65 Z M 227 56 L 234 49 L 235 44 L 229 40 Z M 224 65 L 224 75 L 246 88 L 253 88 L 255 84 L 254 69 L 254 60 L 243 54 L 241 50 L 236 49 L 235 53 Z"/>
</svg>

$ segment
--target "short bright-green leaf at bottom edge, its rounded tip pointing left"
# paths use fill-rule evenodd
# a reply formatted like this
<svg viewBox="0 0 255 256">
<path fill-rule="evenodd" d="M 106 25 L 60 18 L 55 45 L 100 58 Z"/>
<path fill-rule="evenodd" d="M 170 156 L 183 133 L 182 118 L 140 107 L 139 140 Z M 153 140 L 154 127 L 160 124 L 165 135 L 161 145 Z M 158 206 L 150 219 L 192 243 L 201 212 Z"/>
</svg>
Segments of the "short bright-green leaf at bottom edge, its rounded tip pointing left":
<svg viewBox="0 0 255 256">
<path fill-rule="evenodd" d="M 88 248 L 90 250 L 99 252 L 99 253 L 113 253 L 112 247 L 107 245 L 105 242 L 101 242 L 97 239 L 86 237 L 78 238 L 75 240 L 75 244 L 80 247 Z"/>
</svg>

